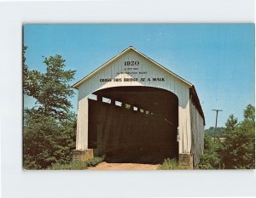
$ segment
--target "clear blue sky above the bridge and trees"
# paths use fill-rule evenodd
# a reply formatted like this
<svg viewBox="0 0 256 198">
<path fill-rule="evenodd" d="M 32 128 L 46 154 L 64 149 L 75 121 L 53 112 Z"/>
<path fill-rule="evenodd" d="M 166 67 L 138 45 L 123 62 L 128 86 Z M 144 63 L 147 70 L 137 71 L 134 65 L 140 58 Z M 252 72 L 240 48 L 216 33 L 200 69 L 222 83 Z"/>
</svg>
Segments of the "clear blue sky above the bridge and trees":
<svg viewBox="0 0 256 198">
<path fill-rule="evenodd" d="M 205 128 L 239 121 L 255 104 L 253 24 L 62 24 L 24 25 L 26 65 L 44 72 L 44 57 L 61 54 L 76 70 L 71 84 L 133 46 L 195 85 L 206 118 Z M 77 111 L 78 95 L 71 99 Z M 25 96 L 25 107 L 35 100 Z"/>
</svg>

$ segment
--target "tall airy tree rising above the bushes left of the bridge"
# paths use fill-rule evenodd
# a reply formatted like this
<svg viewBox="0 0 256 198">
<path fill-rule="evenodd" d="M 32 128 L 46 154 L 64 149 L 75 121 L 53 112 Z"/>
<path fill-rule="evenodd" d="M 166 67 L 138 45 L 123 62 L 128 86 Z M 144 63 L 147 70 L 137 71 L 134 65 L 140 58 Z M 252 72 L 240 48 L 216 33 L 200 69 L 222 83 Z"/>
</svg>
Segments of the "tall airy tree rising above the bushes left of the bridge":
<svg viewBox="0 0 256 198">
<path fill-rule="evenodd" d="M 68 97 L 73 96 L 73 89 L 68 84 L 73 80 L 75 71 L 65 71 L 65 59 L 61 55 L 44 58 L 46 72 L 28 71 L 25 64 L 25 50 L 23 49 L 24 93 L 37 99 L 38 110 L 44 115 L 66 119 L 68 110 L 72 107 Z"/>
</svg>

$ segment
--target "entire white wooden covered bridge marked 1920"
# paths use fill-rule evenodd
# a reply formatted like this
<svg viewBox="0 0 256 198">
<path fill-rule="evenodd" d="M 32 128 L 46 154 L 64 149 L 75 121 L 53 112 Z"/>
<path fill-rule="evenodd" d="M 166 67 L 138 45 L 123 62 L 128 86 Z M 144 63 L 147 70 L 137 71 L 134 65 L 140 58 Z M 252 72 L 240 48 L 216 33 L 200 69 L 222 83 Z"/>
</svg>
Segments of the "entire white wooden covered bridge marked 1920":
<svg viewBox="0 0 256 198">
<path fill-rule="evenodd" d="M 76 150 L 85 160 L 196 167 L 205 118 L 195 87 L 133 47 L 75 83 L 79 90 Z"/>
</svg>

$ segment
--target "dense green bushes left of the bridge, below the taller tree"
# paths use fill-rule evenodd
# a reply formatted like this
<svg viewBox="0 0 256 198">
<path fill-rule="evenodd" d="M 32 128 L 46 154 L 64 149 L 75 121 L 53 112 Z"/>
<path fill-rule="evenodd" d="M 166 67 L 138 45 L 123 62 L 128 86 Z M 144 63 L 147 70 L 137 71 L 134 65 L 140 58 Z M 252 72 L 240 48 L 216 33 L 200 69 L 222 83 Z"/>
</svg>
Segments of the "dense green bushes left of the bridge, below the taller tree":
<svg viewBox="0 0 256 198">
<path fill-rule="evenodd" d="M 24 116 L 25 169 L 44 169 L 56 162 L 67 163 L 72 160 L 76 127 L 72 118 L 56 123 L 54 118 L 41 115 L 38 110 L 26 110 Z"/>
</svg>

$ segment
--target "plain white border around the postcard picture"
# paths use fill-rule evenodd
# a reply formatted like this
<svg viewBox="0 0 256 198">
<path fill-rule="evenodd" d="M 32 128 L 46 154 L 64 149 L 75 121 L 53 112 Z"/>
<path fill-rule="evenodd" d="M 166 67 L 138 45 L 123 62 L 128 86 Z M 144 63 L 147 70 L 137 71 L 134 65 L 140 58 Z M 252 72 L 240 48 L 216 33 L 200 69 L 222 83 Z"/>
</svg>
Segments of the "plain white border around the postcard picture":
<svg viewBox="0 0 256 198">
<path fill-rule="evenodd" d="M 26 23 L 254 23 L 253 0 L 0 3 L 3 197 L 256 195 L 255 171 L 23 171 L 21 43 Z"/>
</svg>

